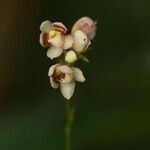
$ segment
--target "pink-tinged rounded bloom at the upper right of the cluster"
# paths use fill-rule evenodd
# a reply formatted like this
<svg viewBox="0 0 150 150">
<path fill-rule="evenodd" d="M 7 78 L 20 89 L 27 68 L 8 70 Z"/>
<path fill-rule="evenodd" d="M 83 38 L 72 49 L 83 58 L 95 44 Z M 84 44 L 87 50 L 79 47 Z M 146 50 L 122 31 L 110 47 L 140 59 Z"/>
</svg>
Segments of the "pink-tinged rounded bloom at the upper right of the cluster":
<svg viewBox="0 0 150 150">
<path fill-rule="evenodd" d="M 89 39 L 93 39 L 96 33 L 96 21 L 89 17 L 82 17 L 72 27 L 72 33 L 77 30 L 83 31 Z"/>
</svg>

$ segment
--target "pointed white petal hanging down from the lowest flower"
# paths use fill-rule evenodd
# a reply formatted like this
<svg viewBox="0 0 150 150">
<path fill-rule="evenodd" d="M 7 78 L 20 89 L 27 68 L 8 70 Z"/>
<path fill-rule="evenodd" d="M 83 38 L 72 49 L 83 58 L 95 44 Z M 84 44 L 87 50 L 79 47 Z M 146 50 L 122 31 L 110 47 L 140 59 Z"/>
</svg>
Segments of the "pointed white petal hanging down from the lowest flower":
<svg viewBox="0 0 150 150">
<path fill-rule="evenodd" d="M 70 82 L 70 83 L 61 83 L 60 84 L 60 90 L 62 95 L 66 98 L 66 99 L 70 99 L 74 93 L 75 90 L 75 82 Z"/>
</svg>

